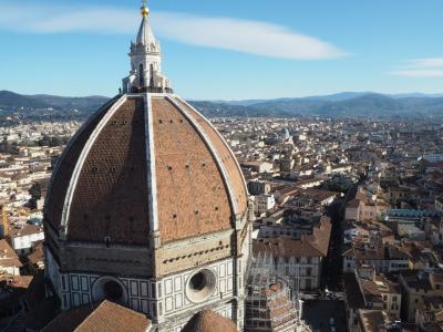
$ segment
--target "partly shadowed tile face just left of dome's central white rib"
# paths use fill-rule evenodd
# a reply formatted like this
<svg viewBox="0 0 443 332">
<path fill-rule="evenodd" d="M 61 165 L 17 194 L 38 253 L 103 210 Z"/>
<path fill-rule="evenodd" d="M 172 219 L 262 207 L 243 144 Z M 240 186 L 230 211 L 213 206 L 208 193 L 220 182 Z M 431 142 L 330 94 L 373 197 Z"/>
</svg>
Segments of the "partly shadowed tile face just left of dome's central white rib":
<svg viewBox="0 0 443 332">
<path fill-rule="evenodd" d="M 147 245 L 144 98 L 128 98 L 85 158 L 68 222 L 70 240 Z"/>
</svg>

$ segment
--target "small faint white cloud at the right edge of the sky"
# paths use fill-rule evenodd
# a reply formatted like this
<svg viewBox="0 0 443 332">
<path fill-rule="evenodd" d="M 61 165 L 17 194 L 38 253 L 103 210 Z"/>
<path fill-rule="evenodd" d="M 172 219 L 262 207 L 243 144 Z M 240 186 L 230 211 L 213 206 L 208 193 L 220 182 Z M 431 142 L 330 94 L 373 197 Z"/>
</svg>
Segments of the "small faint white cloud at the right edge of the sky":
<svg viewBox="0 0 443 332">
<path fill-rule="evenodd" d="M 443 77 L 443 58 L 408 60 L 389 74 L 406 77 Z"/>
</svg>

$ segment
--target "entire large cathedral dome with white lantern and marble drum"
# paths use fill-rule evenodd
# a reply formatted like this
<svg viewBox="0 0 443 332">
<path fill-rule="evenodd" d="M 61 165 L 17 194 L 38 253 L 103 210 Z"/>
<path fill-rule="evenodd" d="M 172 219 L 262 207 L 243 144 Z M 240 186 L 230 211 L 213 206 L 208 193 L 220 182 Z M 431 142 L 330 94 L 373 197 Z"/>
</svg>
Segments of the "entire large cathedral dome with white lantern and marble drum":
<svg viewBox="0 0 443 332">
<path fill-rule="evenodd" d="M 173 93 L 145 3 L 142 15 L 121 94 L 53 170 L 43 221 L 50 292 L 62 310 L 109 300 L 159 331 L 212 309 L 235 331 L 251 251 L 246 183 L 220 134 Z"/>
</svg>

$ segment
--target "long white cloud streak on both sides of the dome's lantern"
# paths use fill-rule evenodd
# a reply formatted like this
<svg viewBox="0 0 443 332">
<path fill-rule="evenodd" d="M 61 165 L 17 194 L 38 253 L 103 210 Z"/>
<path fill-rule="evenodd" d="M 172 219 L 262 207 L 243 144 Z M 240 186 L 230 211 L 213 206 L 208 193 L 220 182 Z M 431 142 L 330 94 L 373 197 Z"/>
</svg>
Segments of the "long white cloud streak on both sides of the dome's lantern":
<svg viewBox="0 0 443 332">
<path fill-rule="evenodd" d="M 23 7 L 16 2 L 2 4 L 0 15 L 0 29 L 27 33 L 135 34 L 137 24 L 136 10 L 110 7 Z M 328 42 L 266 22 L 154 12 L 153 24 L 162 38 L 198 46 L 293 60 L 347 55 Z"/>
</svg>

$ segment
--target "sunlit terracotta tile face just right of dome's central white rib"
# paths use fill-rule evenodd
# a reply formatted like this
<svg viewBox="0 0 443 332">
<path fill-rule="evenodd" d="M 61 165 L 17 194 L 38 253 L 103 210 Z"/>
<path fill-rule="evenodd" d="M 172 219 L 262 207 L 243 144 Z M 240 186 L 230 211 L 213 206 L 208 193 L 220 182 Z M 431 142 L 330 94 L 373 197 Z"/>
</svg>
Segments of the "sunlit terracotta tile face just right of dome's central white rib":
<svg viewBox="0 0 443 332">
<path fill-rule="evenodd" d="M 166 98 L 152 108 L 162 241 L 229 229 L 228 193 L 205 142 Z"/>
</svg>

